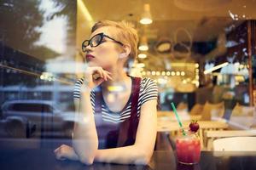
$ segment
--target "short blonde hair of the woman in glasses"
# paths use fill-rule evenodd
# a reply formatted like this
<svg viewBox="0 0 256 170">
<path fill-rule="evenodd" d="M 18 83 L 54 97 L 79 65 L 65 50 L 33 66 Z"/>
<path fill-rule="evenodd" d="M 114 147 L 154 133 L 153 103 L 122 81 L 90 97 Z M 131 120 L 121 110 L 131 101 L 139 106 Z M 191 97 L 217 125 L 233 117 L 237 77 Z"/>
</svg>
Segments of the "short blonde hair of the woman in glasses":
<svg viewBox="0 0 256 170">
<path fill-rule="evenodd" d="M 96 22 L 96 24 L 92 26 L 91 33 L 103 26 L 113 26 L 115 28 L 118 28 L 118 31 L 114 33 L 113 37 L 117 41 L 122 42 L 124 44 L 129 44 L 131 46 L 131 53 L 129 54 L 130 59 L 134 60 L 137 58 L 137 31 L 133 28 L 131 23 L 126 21 L 114 22 L 111 20 L 101 20 Z"/>
</svg>

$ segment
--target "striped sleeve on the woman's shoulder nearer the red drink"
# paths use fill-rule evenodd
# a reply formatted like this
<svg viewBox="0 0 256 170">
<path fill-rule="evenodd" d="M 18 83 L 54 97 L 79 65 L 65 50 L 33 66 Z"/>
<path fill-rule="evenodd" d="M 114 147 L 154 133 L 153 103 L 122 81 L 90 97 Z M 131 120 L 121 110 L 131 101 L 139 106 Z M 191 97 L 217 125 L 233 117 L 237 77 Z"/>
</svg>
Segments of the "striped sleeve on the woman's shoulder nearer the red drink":
<svg viewBox="0 0 256 170">
<path fill-rule="evenodd" d="M 139 103 L 141 103 L 141 105 L 143 105 L 148 100 L 157 99 L 158 97 L 158 88 L 156 83 L 149 78 L 147 78 L 144 83 L 143 93 L 139 98 Z"/>
</svg>

